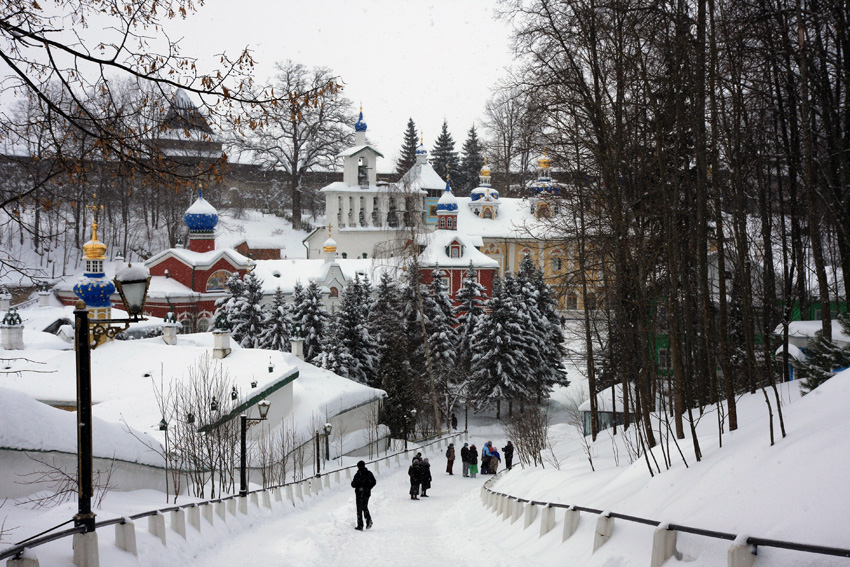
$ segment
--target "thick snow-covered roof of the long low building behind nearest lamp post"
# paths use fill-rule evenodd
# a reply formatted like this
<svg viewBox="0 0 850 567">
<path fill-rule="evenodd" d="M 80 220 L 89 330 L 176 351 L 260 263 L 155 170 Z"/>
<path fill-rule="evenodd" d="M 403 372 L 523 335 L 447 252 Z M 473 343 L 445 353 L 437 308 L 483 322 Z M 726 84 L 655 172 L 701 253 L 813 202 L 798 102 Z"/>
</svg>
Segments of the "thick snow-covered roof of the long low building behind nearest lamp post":
<svg viewBox="0 0 850 567">
<path fill-rule="evenodd" d="M 75 403 L 76 363 L 73 346 L 58 337 L 41 332 L 47 319 L 57 316 L 73 320 L 73 308 L 32 307 L 21 310 L 24 319 L 25 351 L 6 351 L 9 370 L 3 386 L 26 394 L 30 399 L 47 402 Z M 45 318 L 43 314 L 47 314 Z M 212 333 L 178 335 L 175 346 L 166 345 L 161 337 L 135 341 L 111 341 L 100 345 L 91 354 L 93 413 L 97 420 L 110 422 L 113 427 L 95 425 L 95 453 L 98 456 L 126 460 L 141 460 L 144 447 L 129 436 L 117 438 L 123 423 L 155 440 L 161 439 L 159 421 L 162 419 L 157 403 L 156 388 L 168 391 L 186 379 L 190 369 L 208 357 L 213 348 Z M 279 351 L 243 349 L 231 342 L 233 349 L 219 365 L 244 398 L 251 392 L 262 391 L 279 380 L 299 373 L 293 384 L 293 418 L 299 431 L 310 429 L 318 408 L 333 416 L 383 395 L 332 372 L 317 368 L 298 357 Z M 274 368 L 268 372 L 269 362 Z M 116 371 L 117 370 L 117 371 Z M 32 372 L 38 371 L 38 372 Z M 254 388 L 252 382 L 256 381 Z M 33 416 L 50 413 L 48 422 L 59 422 L 59 412 L 41 405 L 33 406 L 24 396 L 15 396 L 0 389 L 0 447 L 22 449 L 76 451 L 76 427 L 62 425 L 66 433 L 58 433 L 45 422 L 32 427 Z M 54 415 L 55 414 L 55 415 Z M 58 416 L 58 417 L 57 417 Z M 26 431 L 21 431 L 26 428 Z M 103 437 L 108 436 L 108 439 Z M 101 438 L 101 439 L 99 439 Z M 101 451 L 99 447 L 103 448 Z M 99 452 L 100 451 L 100 452 Z M 152 457 L 151 457 L 152 458 Z"/>
</svg>

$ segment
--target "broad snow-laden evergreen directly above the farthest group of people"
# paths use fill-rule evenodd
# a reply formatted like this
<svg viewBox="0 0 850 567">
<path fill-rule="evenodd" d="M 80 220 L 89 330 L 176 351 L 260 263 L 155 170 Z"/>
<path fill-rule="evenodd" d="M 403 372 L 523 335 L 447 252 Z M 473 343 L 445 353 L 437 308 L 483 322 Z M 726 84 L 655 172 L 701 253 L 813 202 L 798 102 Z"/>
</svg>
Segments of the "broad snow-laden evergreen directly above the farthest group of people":
<svg viewBox="0 0 850 567">
<path fill-rule="evenodd" d="M 505 398 L 531 398 L 525 387 L 529 372 L 523 344 L 526 333 L 507 292 L 509 277 L 505 282 L 498 277 L 494 280 L 487 315 L 481 317 L 473 333 L 471 398 L 479 409 Z"/>
</svg>

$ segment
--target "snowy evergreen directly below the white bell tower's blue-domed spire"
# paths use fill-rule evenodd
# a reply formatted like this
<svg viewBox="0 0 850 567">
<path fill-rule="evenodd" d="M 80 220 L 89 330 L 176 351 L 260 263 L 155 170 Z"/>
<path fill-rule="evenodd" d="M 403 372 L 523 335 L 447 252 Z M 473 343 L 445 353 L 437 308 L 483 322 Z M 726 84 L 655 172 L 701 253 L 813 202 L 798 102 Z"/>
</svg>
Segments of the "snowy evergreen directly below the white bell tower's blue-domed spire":
<svg viewBox="0 0 850 567">
<path fill-rule="evenodd" d="M 367 282 L 368 285 L 368 282 Z M 321 366 L 355 382 L 374 381 L 377 348 L 364 314 L 364 283 L 355 276 L 343 290 L 342 304 L 333 317 L 332 332 L 321 355 Z"/>
</svg>

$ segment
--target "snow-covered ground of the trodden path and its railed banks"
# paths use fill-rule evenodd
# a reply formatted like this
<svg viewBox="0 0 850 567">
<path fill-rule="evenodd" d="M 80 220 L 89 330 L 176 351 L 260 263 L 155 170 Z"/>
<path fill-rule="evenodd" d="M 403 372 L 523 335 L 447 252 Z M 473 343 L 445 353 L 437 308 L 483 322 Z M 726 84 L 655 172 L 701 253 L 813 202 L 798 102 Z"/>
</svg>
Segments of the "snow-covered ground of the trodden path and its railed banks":
<svg viewBox="0 0 850 567">
<path fill-rule="evenodd" d="M 669 470 L 650 476 L 643 460 L 628 462 L 620 440 L 607 433 L 590 446 L 596 471 L 590 469 L 581 438 L 564 423 L 552 426 L 552 462 L 545 468 L 519 469 L 502 475 L 494 489 L 522 498 L 575 504 L 632 514 L 662 522 L 764 538 L 850 548 L 850 371 L 845 371 L 800 397 L 796 384 L 781 389 L 788 436 L 768 439 L 764 397 L 759 392 L 740 400 L 740 428 L 723 437 L 719 448 L 716 416 L 706 414 L 699 425 L 704 458 L 694 461 L 690 442 L 681 443 L 687 465 L 673 448 Z M 462 416 L 459 416 L 462 422 Z M 472 442 L 505 436 L 492 417 L 470 419 Z M 619 436 L 622 437 L 622 436 Z M 616 450 L 615 450 L 616 447 Z M 561 541 L 563 512 L 555 529 L 539 537 L 539 524 L 523 530 L 484 508 L 481 484 L 489 477 L 467 479 L 444 472 L 442 451 L 426 453 L 434 476 L 432 495 L 417 502 L 407 495 L 407 463 L 376 475 L 370 509 L 375 527 L 353 530 L 353 491 L 345 482 L 293 507 L 276 503 L 271 511 L 231 518 L 226 525 L 188 528 L 187 539 L 169 534 L 168 547 L 137 522 L 138 559 L 112 546 L 112 529 L 99 533 L 101 564 L 232 565 L 250 558 L 252 565 L 407 566 L 455 564 L 646 566 L 652 527 L 617 521 L 612 539 L 591 554 L 596 517 L 582 514 L 576 534 Z M 660 453 L 656 458 L 661 463 Z M 348 466 L 355 459 L 335 463 Z M 458 472 L 456 466 L 455 471 Z M 186 502 L 187 500 L 182 500 Z M 151 491 L 113 492 L 98 519 L 130 515 L 164 507 L 164 495 Z M 4 543 L 16 542 L 70 518 L 69 503 L 48 511 L 29 510 L 12 502 L 0 509 L 6 529 L 15 528 Z M 539 520 L 538 520 L 539 522 Z M 697 566 L 726 564 L 731 542 L 680 535 L 682 561 Z M 5 546 L 3 546 L 5 547 Z M 70 541 L 38 548 L 42 565 L 70 566 Z M 676 559 L 666 565 L 675 565 Z M 771 567 L 848 566 L 850 559 L 760 548 L 756 565 Z"/>
</svg>

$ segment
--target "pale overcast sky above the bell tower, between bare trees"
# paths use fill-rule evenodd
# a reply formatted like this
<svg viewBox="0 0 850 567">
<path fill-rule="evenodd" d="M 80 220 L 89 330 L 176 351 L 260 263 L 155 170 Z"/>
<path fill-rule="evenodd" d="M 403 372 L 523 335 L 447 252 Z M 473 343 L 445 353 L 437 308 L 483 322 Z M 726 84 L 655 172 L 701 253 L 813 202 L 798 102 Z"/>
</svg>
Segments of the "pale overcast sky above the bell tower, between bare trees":
<svg viewBox="0 0 850 567">
<path fill-rule="evenodd" d="M 424 130 L 430 151 L 443 119 L 460 151 L 483 116 L 494 83 L 513 56 L 510 28 L 493 14 L 494 0 L 207 0 L 185 21 L 169 22 L 183 55 L 234 57 L 245 46 L 260 66 L 292 59 L 329 67 L 343 95 L 363 104 L 370 141 L 391 171 L 407 119 Z"/>
</svg>

